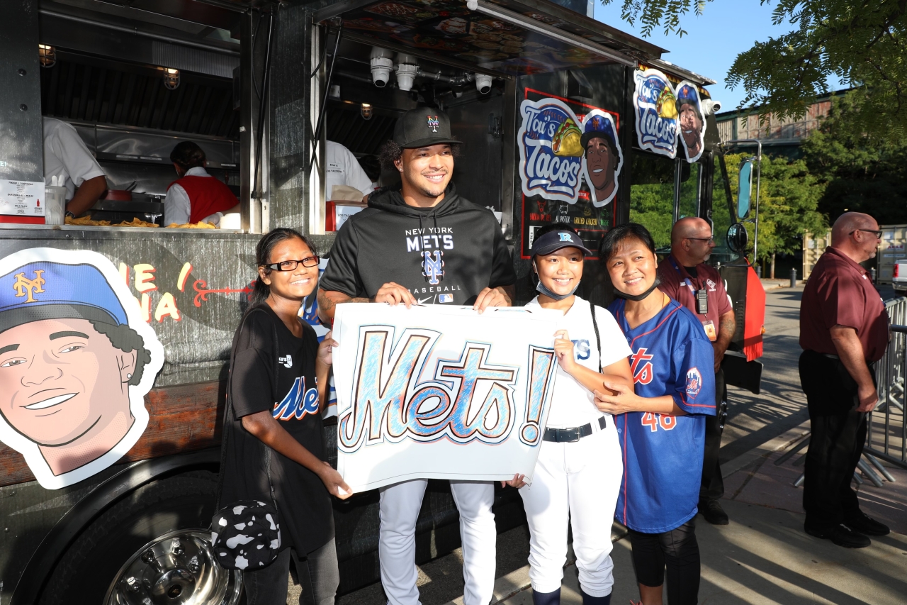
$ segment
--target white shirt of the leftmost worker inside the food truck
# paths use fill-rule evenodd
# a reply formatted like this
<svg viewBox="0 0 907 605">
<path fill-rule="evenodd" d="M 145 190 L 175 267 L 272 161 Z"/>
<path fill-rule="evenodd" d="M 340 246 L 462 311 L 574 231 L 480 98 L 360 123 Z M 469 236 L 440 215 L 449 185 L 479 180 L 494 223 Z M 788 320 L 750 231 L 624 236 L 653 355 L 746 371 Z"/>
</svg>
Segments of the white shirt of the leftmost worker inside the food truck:
<svg viewBox="0 0 907 605">
<path fill-rule="evenodd" d="M 95 176 L 104 176 L 104 171 L 72 124 L 45 117 L 44 184 L 51 184 L 53 176 L 63 177 L 69 201 L 76 187 Z"/>
</svg>

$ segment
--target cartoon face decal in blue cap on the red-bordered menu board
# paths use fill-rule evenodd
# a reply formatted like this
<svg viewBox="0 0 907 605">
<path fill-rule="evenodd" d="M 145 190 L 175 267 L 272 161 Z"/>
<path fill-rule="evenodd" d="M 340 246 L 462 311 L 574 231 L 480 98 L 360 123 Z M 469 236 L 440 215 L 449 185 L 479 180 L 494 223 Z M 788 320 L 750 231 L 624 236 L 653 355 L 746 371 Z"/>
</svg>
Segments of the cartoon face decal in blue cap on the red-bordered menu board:
<svg viewBox="0 0 907 605">
<path fill-rule="evenodd" d="M 585 162 L 583 170 L 588 183 L 592 204 L 607 205 L 618 191 L 618 174 L 623 165 L 617 128 L 614 119 L 599 109 L 592 110 L 582 121 L 580 138 Z"/>
</svg>

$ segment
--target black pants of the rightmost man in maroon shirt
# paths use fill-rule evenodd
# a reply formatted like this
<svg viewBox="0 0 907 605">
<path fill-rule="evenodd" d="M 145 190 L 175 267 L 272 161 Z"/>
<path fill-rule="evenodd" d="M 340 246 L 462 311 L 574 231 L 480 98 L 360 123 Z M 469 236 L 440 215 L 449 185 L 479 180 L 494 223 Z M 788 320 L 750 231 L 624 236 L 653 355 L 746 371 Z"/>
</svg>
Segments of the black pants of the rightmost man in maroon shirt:
<svg viewBox="0 0 907 605">
<path fill-rule="evenodd" d="M 870 373 L 874 383 L 872 367 Z M 803 484 L 805 525 L 824 530 L 860 510 L 851 481 L 866 441 L 866 414 L 856 411 L 857 384 L 838 360 L 803 352 L 800 383 L 812 431 Z"/>
</svg>

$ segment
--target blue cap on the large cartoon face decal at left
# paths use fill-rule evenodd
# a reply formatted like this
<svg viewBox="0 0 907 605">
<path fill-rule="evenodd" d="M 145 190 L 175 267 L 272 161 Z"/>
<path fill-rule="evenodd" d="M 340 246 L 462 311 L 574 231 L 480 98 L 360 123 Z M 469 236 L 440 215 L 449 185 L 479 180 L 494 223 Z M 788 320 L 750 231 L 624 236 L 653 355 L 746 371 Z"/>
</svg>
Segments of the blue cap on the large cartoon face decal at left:
<svg viewBox="0 0 907 605">
<path fill-rule="evenodd" d="M 94 265 L 39 261 L 0 275 L 0 332 L 64 318 L 129 323 L 120 299 Z"/>
</svg>

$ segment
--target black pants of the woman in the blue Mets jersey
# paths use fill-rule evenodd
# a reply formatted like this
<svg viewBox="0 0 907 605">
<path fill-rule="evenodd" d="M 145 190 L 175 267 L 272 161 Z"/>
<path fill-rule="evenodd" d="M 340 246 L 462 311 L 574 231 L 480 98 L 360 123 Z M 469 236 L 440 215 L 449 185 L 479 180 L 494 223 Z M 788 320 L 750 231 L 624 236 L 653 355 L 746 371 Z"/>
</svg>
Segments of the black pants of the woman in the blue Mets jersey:
<svg viewBox="0 0 907 605">
<path fill-rule="evenodd" d="M 668 567 L 668 603 L 696 605 L 699 597 L 699 544 L 696 517 L 663 533 L 629 531 L 636 580 L 643 586 L 665 583 Z"/>
</svg>

